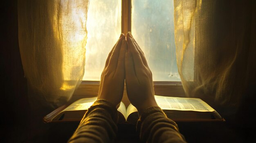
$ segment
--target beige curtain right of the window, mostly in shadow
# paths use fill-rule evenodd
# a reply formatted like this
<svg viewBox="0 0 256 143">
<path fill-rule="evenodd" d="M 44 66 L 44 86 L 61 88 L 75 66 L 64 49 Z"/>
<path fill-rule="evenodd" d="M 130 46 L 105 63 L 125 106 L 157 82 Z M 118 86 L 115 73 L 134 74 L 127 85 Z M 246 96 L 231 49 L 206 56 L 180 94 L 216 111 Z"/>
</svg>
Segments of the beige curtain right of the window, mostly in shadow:
<svg viewBox="0 0 256 143">
<path fill-rule="evenodd" d="M 230 105 L 254 98 L 248 92 L 256 85 L 255 6 L 253 0 L 174 0 L 186 96 Z"/>
</svg>

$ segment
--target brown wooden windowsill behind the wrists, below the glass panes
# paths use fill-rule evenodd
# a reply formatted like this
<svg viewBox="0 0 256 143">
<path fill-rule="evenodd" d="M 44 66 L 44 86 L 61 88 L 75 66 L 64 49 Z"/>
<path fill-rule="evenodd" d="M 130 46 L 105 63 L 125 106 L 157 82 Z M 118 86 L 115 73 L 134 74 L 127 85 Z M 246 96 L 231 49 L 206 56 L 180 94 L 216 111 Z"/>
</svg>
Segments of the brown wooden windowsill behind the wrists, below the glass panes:
<svg viewBox="0 0 256 143">
<path fill-rule="evenodd" d="M 185 97 L 181 82 L 154 81 L 155 95 Z M 99 91 L 99 81 L 82 81 L 80 86 L 74 91 L 72 100 L 84 97 L 96 97 Z M 122 101 L 126 107 L 130 104 L 127 97 L 126 86 L 124 86 L 124 96 Z"/>
</svg>

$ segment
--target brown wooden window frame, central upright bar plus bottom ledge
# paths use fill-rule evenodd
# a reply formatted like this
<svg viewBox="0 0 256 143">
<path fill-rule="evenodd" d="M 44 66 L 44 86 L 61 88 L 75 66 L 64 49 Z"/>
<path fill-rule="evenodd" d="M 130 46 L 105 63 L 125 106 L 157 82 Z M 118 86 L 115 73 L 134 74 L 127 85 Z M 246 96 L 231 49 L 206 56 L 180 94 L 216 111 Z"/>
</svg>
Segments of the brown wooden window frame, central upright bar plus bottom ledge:
<svg viewBox="0 0 256 143">
<path fill-rule="evenodd" d="M 122 0 L 121 32 L 131 31 L 131 0 Z M 74 91 L 72 101 L 84 97 L 96 97 L 99 91 L 100 81 L 82 81 Z M 153 81 L 155 95 L 185 97 L 185 92 L 180 81 Z M 122 102 L 126 106 L 130 104 L 127 97 L 126 86 Z"/>
</svg>

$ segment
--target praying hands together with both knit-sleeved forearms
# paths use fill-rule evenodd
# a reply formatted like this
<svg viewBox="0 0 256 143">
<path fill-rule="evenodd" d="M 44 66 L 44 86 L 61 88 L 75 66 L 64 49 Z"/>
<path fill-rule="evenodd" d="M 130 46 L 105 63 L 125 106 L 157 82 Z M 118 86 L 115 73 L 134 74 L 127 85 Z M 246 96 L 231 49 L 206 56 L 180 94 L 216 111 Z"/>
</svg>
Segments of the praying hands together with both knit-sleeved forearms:
<svg viewBox="0 0 256 143">
<path fill-rule="evenodd" d="M 130 32 L 122 33 L 110 51 L 101 74 L 97 101 L 87 110 L 69 143 L 110 143 L 117 140 L 117 108 L 124 93 L 138 110 L 141 142 L 185 143 L 177 124 L 157 106 L 152 73 Z"/>
</svg>

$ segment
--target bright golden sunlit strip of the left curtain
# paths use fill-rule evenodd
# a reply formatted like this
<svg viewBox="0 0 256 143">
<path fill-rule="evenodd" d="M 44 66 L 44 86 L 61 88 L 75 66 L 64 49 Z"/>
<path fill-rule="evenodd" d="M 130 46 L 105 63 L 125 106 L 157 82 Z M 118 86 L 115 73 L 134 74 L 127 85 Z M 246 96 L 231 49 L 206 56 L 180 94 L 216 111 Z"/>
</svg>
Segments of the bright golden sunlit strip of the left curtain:
<svg viewBox="0 0 256 143">
<path fill-rule="evenodd" d="M 60 33 L 61 47 L 63 49 L 62 74 L 64 81 L 70 81 L 79 77 L 73 74 L 81 71 L 81 65 L 85 64 L 85 44 L 87 39 L 85 3 L 82 0 L 72 2 L 61 1 L 61 15 L 58 15 L 58 33 Z M 57 35 L 57 34 L 56 34 Z M 64 50 L 65 49 L 65 50 Z M 70 66 L 72 65 L 72 66 Z M 70 85 L 63 84 L 62 89 L 70 89 Z"/>
</svg>

